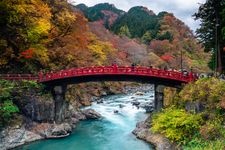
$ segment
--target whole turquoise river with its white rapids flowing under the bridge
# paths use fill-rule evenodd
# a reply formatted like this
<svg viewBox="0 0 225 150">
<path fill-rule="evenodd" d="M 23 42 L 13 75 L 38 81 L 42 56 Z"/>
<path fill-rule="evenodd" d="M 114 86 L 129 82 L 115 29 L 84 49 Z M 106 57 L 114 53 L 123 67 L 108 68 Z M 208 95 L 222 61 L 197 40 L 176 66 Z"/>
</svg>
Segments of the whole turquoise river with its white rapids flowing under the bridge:
<svg viewBox="0 0 225 150">
<path fill-rule="evenodd" d="M 115 95 L 104 98 L 103 103 L 91 107 L 103 118 L 81 121 L 71 136 L 33 142 L 19 149 L 24 150 L 151 150 L 151 145 L 137 139 L 131 132 L 138 121 L 144 120 L 145 110 L 132 105 L 136 99 L 149 101 L 149 94 Z M 86 108 L 85 108 L 86 109 Z M 118 113 L 114 113 L 118 110 Z"/>
</svg>

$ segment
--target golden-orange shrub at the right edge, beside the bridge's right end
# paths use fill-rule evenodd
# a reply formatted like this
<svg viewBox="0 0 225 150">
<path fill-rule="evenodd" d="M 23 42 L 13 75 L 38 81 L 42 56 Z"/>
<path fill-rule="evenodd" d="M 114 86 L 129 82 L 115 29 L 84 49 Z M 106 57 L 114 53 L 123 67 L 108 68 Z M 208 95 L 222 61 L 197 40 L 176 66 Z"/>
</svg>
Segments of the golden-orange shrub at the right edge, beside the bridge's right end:
<svg viewBox="0 0 225 150">
<path fill-rule="evenodd" d="M 225 97 L 225 82 L 216 78 L 203 78 L 188 84 L 179 93 L 177 100 L 202 102 L 209 110 L 220 109 L 219 102 Z"/>
</svg>

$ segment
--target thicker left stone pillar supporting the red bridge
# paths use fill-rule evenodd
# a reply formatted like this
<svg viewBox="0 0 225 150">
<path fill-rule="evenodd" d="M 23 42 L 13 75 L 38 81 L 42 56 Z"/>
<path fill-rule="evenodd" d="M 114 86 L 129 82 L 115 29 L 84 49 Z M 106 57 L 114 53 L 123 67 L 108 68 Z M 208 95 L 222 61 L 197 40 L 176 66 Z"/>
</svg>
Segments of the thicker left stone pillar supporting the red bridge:
<svg viewBox="0 0 225 150">
<path fill-rule="evenodd" d="M 55 122 L 62 123 L 65 120 L 67 102 L 65 100 L 67 85 L 57 85 L 52 89 L 52 95 L 55 102 Z"/>
</svg>

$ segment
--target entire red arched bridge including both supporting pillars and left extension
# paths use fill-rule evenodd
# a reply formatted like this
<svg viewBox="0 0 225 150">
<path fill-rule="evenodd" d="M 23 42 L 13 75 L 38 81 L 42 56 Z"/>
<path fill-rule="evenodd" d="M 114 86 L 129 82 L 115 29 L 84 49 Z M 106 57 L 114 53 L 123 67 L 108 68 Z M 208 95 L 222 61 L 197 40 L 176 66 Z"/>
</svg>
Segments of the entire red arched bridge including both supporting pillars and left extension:
<svg viewBox="0 0 225 150">
<path fill-rule="evenodd" d="M 52 93 L 55 105 L 55 121 L 62 123 L 65 119 L 65 109 L 67 106 L 65 94 L 68 84 L 88 82 L 88 81 L 138 81 L 154 84 L 155 101 L 154 110 L 160 110 L 163 107 L 163 89 L 164 86 L 180 88 L 183 83 L 188 83 L 197 78 L 193 73 L 183 74 L 176 71 L 160 70 L 149 67 L 118 67 L 99 66 L 86 68 L 71 68 L 58 72 L 49 72 L 43 74 L 39 72 L 38 76 L 31 74 L 4 74 L 0 79 L 7 80 L 36 80 L 46 84 L 47 89 Z"/>
</svg>

